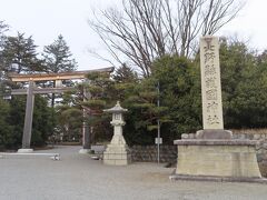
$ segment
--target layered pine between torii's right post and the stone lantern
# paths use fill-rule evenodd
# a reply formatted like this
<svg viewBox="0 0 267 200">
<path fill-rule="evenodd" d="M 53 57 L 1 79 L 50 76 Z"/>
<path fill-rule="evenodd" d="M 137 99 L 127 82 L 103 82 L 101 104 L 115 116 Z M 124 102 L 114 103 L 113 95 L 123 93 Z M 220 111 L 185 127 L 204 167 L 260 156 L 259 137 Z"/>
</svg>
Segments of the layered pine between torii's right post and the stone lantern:
<svg viewBox="0 0 267 200">
<path fill-rule="evenodd" d="M 86 110 L 86 119 L 89 127 L 93 129 L 91 141 L 110 140 L 112 130 L 110 129 L 110 116 L 102 112 L 106 108 L 115 106 L 116 93 L 113 81 L 109 73 L 91 72 L 87 76 L 90 80 L 89 84 L 82 84 L 81 89 L 86 89 L 90 93 L 90 98 L 80 102 Z"/>
</svg>

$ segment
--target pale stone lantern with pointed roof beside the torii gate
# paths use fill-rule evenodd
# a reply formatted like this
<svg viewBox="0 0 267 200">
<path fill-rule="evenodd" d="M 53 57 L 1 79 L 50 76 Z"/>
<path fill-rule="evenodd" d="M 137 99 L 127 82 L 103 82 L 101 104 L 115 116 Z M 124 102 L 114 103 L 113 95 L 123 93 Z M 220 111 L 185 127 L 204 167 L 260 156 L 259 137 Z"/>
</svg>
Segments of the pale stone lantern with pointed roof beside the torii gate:
<svg viewBox="0 0 267 200">
<path fill-rule="evenodd" d="M 103 163 L 127 166 L 131 162 L 131 154 L 122 134 L 122 126 L 125 126 L 122 113 L 128 110 L 121 108 L 119 101 L 117 101 L 113 108 L 103 111 L 112 113 L 112 121 L 110 123 L 113 126 L 113 137 L 103 152 Z"/>
</svg>

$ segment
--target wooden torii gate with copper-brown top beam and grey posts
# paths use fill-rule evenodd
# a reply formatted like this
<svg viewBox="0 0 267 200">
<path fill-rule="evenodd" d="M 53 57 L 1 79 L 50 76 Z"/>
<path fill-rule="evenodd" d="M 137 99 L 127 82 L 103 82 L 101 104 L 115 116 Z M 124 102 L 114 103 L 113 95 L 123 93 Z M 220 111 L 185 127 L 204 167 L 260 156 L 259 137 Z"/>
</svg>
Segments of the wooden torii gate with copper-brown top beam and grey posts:
<svg viewBox="0 0 267 200">
<path fill-rule="evenodd" d="M 34 94 L 44 93 L 62 93 L 65 91 L 73 90 L 73 87 L 61 87 L 62 80 L 75 80 L 75 79 L 86 79 L 86 76 L 90 72 L 107 72 L 111 73 L 113 68 L 95 69 L 87 71 L 72 71 L 72 72 L 61 72 L 61 73 L 34 73 L 34 74 L 10 74 L 13 82 L 29 82 L 28 89 L 13 89 L 11 94 L 27 94 L 26 102 L 26 116 L 24 116 L 24 128 L 22 136 L 22 148 L 18 152 L 32 152 L 30 148 L 31 142 L 31 129 L 32 129 L 32 114 L 34 106 Z M 56 81 L 56 88 L 34 88 L 36 81 Z M 90 136 L 88 126 L 83 122 L 82 126 L 82 149 L 80 152 L 88 152 L 90 149 Z"/>
</svg>

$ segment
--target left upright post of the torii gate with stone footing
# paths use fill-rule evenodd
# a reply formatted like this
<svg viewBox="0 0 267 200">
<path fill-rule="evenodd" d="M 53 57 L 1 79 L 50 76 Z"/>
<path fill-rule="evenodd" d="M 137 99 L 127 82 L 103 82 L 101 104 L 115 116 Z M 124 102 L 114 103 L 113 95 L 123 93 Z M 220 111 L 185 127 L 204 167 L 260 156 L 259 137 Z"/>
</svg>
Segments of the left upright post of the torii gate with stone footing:
<svg viewBox="0 0 267 200">
<path fill-rule="evenodd" d="M 33 94 L 34 82 L 29 82 L 29 88 L 27 91 L 27 102 L 26 102 L 26 116 L 24 116 L 24 129 L 22 136 L 22 148 L 18 152 L 32 152 L 30 148 L 31 143 L 31 129 L 32 129 L 32 116 L 34 107 L 34 94 Z"/>
</svg>

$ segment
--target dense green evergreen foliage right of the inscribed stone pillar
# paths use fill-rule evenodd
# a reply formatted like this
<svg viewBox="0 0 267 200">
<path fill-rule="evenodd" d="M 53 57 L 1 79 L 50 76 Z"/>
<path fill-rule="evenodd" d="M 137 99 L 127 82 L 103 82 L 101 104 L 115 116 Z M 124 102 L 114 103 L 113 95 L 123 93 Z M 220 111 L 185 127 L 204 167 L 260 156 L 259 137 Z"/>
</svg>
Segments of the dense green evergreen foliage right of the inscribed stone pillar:
<svg viewBox="0 0 267 200">
<path fill-rule="evenodd" d="M 221 40 L 220 69 L 226 128 L 263 128 L 267 121 L 267 60 L 244 42 Z"/>
</svg>

